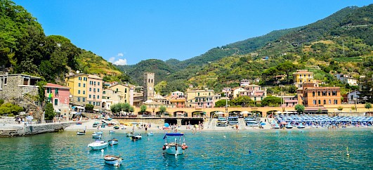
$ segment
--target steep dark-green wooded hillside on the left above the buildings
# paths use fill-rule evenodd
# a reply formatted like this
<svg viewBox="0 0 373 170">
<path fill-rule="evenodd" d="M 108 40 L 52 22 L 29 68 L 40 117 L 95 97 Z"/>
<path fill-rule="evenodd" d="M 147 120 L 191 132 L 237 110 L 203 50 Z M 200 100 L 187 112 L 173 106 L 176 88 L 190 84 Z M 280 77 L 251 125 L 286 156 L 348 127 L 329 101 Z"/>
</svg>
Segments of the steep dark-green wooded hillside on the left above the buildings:
<svg viewBox="0 0 373 170">
<path fill-rule="evenodd" d="M 64 84 L 69 72 L 99 74 L 106 80 L 125 80 L 117 67 L 90 51 L 78 48 L 70 39 L 46 36 L 25 8 L 0 0 L 0 70 L 39 76 Z"/>
</svg>

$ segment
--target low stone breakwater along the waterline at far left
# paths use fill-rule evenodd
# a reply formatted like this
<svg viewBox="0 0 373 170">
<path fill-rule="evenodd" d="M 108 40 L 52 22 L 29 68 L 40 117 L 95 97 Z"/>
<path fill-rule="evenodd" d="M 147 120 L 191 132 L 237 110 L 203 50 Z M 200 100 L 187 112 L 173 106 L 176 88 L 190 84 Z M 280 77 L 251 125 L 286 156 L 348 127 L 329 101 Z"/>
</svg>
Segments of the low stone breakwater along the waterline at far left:
<svg viewBox="0 0 373 170">
<path fill-rule="evenodd" d="M 64 122 L 59 124 L 35 124 L 28 126 L 3 126 L 0 128 L 0 137 L 31 136 L 41 133 L 50 133 L 64 130 L 67 126 L 76 122 Z"/>
</svg>

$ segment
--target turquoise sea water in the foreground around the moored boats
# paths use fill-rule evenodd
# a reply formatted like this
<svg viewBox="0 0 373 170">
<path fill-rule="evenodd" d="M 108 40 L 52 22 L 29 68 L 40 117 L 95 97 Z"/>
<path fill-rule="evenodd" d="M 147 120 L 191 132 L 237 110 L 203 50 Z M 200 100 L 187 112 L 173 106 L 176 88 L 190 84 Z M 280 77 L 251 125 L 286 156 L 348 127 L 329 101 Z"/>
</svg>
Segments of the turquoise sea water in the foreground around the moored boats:
<svg viewBox="0 0 373 170">
<path fill-rule="evenodd" d="M 91 132 L 0 138 L 0 169 L 373 169 L 372 129 L 187 132 L 177 157 L 163 154 L 164 133 L 133 142 L 104 131 L 119 144 L 101 152 L 87 148 Z M 122 155 L 122 166 L 105 164 L 107 154 Z"/>
</svg>

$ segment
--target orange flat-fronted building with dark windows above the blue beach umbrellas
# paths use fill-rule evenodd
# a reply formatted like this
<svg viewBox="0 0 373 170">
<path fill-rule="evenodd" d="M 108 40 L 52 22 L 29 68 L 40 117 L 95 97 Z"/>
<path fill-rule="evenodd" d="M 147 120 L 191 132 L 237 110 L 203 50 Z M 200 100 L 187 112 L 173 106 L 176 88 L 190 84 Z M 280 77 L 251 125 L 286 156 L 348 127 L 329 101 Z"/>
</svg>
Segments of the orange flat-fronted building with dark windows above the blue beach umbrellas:
<svg viewBox="0 0 373 170">
<path fill-rule="evenodd" d="M 318 84 L 303 83 L 303 89 L 299 92 L 306 107 L 341 105 L 340 87 L 320 87 Z"/>
</svg>

